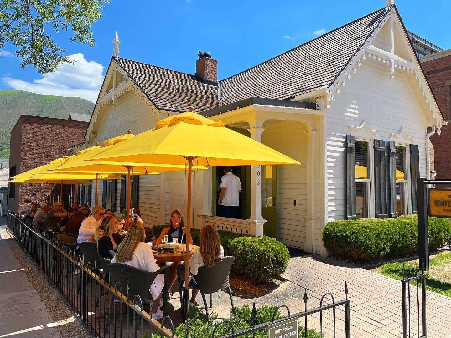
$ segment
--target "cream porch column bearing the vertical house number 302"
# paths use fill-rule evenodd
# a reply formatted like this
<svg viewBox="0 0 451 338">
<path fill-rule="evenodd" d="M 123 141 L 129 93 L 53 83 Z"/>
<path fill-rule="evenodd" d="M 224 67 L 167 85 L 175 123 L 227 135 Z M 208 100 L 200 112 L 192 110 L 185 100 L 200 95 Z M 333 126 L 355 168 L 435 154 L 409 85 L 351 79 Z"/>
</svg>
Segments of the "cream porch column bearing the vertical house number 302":
<svg viewBox="0 0 451 338">
<path fill-rule="evenodd" d="M 263 124 L 263 123 L 261 123 Z M 261 125 L 260 124 L 260 125 Z M 253 140 L 262 142 L 262 132 L 264 128 L 253 127 L 248 131 L 251 133 Z M 262 218 L 262 166 L 251 166 L 251 216 L 247 219 L 249 222 L 255 224 L 255 236 L 263 236 L 263 224 L 266 219 Z"/>
</svg>

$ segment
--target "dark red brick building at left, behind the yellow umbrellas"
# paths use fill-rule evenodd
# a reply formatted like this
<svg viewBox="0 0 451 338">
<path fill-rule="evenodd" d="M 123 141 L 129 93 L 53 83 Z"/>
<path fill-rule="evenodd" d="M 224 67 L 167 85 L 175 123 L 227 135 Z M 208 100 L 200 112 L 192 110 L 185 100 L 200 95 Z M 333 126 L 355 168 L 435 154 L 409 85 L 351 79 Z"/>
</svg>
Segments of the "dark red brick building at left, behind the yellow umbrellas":
<svg viewBox="0 0 451 338">
<path fill-rule="evenodd" d="M 83 121 L 21 115 L 11 131 L 9 177 L 71 155 L 68 147 L 83 142 L 87 125 Z M 49 195 L 50 189 L 50 184 L 10 183 L 8 210 L 18 212 L 20 205 Z M 70 185 L 65 189 L 64 194 L 69 194 Z M 52 192 L 59 198 L 60 186 L 55 185 Z"/>
</svg>

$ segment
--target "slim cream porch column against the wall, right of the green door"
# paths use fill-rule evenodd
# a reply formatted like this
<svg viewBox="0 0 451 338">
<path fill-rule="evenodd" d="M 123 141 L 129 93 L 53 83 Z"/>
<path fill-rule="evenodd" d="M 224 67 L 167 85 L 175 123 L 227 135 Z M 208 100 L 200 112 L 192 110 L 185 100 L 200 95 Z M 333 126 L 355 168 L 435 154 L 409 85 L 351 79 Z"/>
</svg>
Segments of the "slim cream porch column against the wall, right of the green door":
<svg viewBox="0 0 451 338">
<path fill-rule="evenodd" d="M 307 212 L 305 221 L 305 245 L 304 250 L 316 253 L 315 242 L 315 137 L 317 132 L 307 131 Z"/>
</svg>

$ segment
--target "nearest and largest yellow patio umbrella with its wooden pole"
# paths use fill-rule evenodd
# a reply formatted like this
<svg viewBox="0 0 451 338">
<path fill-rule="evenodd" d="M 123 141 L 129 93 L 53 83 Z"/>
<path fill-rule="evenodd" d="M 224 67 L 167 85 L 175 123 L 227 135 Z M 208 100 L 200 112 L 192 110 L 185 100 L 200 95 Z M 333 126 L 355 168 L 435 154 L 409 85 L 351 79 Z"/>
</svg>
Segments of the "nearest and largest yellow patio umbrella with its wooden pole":
<svg viewBox="0 0 451 338">
<path fill-rule="evenodd" d="M 122 164 L 188 164 L 188 210 L 186 231 L 186 271 L 188 281 L 193 164 L 199 166 L 300 164 L 249 137 L 193 112 L 170 116 L 156 128 L 105 149 L 90 160 Z M 188 283 L 185 283 L 188 289 Z M 188 313 L 186 311 L 185 313 Z"/>
</svg>

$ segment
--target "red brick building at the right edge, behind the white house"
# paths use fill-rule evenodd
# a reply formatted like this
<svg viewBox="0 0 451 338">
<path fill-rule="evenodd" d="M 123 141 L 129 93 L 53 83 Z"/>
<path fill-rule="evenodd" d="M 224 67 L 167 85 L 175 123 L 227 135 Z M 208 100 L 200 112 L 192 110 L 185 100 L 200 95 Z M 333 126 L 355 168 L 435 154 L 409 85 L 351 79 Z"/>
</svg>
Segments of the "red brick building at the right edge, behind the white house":
<svg viewBox="0 0 451 338">
<path fill-rule="evenodd" d="M 423 56 L 421 65 L 433 88 L 437 103 L 445 120 L 451 122 L 451 49 Z M 433 134 L 431 142 L 434 146 L 434 163 L 436 179 L 451 178 L 451 125 L 442 127 L 440 136 Z M 432 162 L 432 158 L 431 158 Z"/>
</svg>

